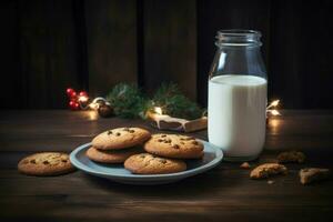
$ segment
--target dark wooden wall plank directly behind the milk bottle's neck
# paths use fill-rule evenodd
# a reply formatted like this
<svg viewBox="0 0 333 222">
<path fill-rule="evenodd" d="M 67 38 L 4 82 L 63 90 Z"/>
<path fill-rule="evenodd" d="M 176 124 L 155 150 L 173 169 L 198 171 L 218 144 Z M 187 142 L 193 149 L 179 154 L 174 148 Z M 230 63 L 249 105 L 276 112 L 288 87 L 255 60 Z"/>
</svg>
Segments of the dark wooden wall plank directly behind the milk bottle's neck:
<svg viewBox="0 0 333 222">
<path fill-rule="evenodd" d="M 262 32 L 264 59 L 268 63 L 270 37 L 270 1 L 211 0 L 198 1 L 198 94 L 206 105 L 208 74 L 215 53 L 215 36 L 221 29 L 253 29 Z"/>
</svg>

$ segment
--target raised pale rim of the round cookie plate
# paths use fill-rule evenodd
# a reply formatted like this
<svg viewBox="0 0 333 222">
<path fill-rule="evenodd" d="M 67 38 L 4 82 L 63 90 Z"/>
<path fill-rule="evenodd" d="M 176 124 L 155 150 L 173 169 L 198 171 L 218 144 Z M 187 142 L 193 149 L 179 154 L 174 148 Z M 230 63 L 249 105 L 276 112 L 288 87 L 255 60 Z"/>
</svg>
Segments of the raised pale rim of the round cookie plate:
<svg viewBox="0 0 333 222">
<path fill-rule="evenodd" d="M 91 142 L 89 143 L 84 143 L 79 145 L 78 148 L 75 148 L 71 153 L 70 153 L 70 161 L 71 163 L 79 170 L 87 172 L 89 174 L 93 174 L 97 176 L 103 176 L 103 178 L 108 178 L 108 179 L 121 179 L 121 180 L 148 180 L 148 179 L 152 179 L 152 180 L 165 180 L 165 179 L 178 179 L 178 178 L 188 178 L 191 175 L 195 175 L 202 172 L 205 172 L 214 167 L 216 167 L 223 159 L 223 152 L 221 149 L 219 149 L 218 147 L 213 145 L 212 143 L 204 141 L 204 140 L 200 140 L 196 139 L 199 141 L 201 141 L 204 145 L 210 145 L 215 153 L 215 158 L 203 164 L 200 165 L 198 168 L 193 168 L 191 170 L 185 170 L 185 171 L 181 171 L 181 172 L 176 172 L 176 173 L 165 173 L 165 174 L 112 174 L 112 173 L 107 173 L 107 172 L 99 172 L 90 167 L 88 167 L 87 164 L 83 164 L 81 161 L 79 161 L 79 159 L 77 158 L 77 154 L 91 147 Z"/>
</svg>

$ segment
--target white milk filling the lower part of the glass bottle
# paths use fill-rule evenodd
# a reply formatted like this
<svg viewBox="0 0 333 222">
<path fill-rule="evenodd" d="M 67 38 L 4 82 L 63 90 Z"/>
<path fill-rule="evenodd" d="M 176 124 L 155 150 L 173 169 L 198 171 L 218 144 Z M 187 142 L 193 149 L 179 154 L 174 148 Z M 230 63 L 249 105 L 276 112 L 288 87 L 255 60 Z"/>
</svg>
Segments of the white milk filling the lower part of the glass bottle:
<svg viewBox="0 0 333 222">
<path fill-rule="evenodd" d="M 266 80 L 219 75 L 209 81 L 209 141 L 230 160 L 255 159 L 265 140 Z"/>
</svg>

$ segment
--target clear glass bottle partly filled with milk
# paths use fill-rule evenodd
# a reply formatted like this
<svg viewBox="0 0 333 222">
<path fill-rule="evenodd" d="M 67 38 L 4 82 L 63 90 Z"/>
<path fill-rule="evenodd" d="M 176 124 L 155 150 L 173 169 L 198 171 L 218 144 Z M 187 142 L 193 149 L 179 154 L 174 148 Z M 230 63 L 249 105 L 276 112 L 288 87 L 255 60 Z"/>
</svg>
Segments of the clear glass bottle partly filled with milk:
<svg viewBox="0 0 333 222">
<path fill-rule="evenodd" d="M 261 33 L 221 30 L 209 77 L 209 141 L 225 160 L 254 160 L 265 140 L 266 70 L 261 57 Z"/>
</svg>

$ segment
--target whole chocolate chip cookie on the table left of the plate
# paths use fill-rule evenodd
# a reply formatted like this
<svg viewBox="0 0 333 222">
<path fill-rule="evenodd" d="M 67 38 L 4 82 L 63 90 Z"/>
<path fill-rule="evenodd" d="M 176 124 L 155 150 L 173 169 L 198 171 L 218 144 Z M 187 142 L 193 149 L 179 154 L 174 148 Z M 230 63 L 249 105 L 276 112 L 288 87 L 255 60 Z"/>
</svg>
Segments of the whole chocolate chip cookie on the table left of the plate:
<svg viewBox="0 0 333 222">
<path fill-rule="evenodd" d="M 23 158 L 18 170 L 29 175 L 60 175 L 74 170 L 67 153 L 42 152 Z"/>
</svg>

